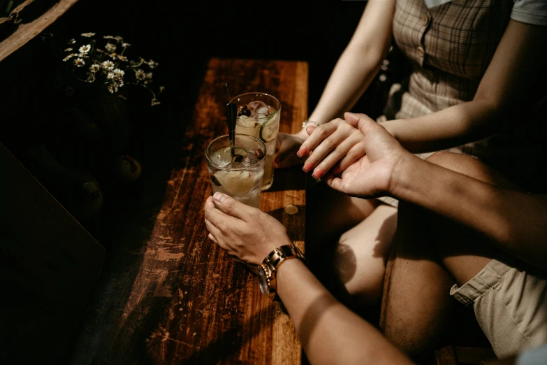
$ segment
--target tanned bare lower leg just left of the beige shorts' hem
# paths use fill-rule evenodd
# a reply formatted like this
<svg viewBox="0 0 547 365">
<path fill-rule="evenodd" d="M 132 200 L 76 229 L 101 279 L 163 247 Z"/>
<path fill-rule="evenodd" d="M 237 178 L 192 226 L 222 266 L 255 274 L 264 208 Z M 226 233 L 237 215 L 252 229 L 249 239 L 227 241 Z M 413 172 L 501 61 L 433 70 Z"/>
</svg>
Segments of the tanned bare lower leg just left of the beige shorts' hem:
<svg viewBox="0 0 547 365">
<path fill-rule="evenodd" d="M 451 275 L 439 262 L 427 212 L 399 203 L 395 258 L 386 277 L 380 327 L 415 360 L 434 345 L 446 327 L 454 300 Z"/>
</svg>

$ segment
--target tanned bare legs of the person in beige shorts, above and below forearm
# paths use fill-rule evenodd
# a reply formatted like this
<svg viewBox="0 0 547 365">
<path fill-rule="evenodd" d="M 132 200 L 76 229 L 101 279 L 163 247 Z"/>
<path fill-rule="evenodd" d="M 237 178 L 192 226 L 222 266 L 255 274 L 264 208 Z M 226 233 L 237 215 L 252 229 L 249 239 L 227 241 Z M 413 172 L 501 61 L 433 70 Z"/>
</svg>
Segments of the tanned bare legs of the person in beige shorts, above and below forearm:
<svg viewBox="0 0 547 365">
<path fill-rule="evenodd" d="M 467 155 L 437 153 L 428 161 L 488 183 L 514 187 Z M 393 262 L 384 285 L 381 328 L 395 345 L 419 359 L 443 340 L 451 310 L 449 295 L 483 269 L 497 250 L 465 227 L 400 202 Z"/>
</svg>

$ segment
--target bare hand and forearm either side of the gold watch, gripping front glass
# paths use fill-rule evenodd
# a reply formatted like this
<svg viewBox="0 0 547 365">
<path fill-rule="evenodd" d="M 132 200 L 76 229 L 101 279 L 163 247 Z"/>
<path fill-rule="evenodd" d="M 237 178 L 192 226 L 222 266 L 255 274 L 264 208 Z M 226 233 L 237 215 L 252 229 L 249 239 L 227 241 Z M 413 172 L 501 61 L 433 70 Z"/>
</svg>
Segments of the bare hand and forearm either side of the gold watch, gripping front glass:
<svg viewBox="0 0 547 365">
<path fill-rule="evenodd" d="M 274 217 L 218 192 L 205 202 L 205 224 L 214 243 L 254 264 L 291 243 Z M 277 293 L 311 364 L 411 364 L 377 329 L 330 295 L 299 259 L 288 259 L 277 269 Z"/>
</svg>

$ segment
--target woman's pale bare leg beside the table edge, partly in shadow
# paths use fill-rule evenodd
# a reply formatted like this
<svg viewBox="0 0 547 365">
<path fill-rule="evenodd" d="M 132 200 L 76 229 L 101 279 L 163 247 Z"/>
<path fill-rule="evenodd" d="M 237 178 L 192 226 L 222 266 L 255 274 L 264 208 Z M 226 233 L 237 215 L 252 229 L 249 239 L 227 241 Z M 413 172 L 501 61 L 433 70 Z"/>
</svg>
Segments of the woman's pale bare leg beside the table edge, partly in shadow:
<svg viewBox="0 0 547 365">
<path fill-rule="evenodd" d="M 396 209 L 321 183 L 308 190 L 307 202 L 310 269 L 352 309 L 363 314 L 376 306 L 377 315 Z"/>
</svg>

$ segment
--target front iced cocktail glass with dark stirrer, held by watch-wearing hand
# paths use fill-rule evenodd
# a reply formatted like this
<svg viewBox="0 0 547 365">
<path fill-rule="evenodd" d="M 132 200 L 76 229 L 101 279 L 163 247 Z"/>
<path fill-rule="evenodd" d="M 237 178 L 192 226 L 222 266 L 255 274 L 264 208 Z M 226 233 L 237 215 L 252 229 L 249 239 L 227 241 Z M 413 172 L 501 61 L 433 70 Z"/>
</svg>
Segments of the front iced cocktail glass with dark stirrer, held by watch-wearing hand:
<svg viewBox="0 0 547 365">
<path fill-rule="evenodd" d="M 260 139 L 235 134 L 235 156 L 232 157 L 228 134 L 211 141 L 205 156 L 213 194 L 222 192 L 248 206 L 259 208 L 265 149 Z M 233 161 L 240 162 L 242 167 L 231 167 Z"/>
</svg>

